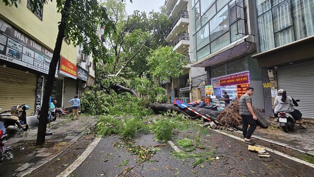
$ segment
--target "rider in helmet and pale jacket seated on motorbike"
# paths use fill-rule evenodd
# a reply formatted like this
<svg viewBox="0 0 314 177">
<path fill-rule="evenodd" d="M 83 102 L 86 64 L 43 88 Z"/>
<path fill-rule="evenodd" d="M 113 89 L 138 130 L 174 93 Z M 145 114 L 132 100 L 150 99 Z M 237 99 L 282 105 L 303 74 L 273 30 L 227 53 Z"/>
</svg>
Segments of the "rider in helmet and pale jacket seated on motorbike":
<svg viewBox="0 0 314 177">
<path fill-rule="evenodd" d="M 296 110 L 293 108 L 293 103 L 295 102 L 291 96 L 287 96 L 287 92 L 284 89 L 279 89 L 277 92 L 278 96 L 276 96 L 274 105 L 274 115 L 277 116 L 278 112 L 287 112 L 289 113 L 294 119 L 297 124 L 299 124 L 299 127 L 301 129 L 306 128 L 302 125 L 302 122 L 300 121 L 302 114 L 299 110 Z M 295 102 L 295 104 L 297 104 Z M 297 105 L 296 105 L 297 106 Z M 276 119 L 277 120 L 277 119 Z"/>
</svg>

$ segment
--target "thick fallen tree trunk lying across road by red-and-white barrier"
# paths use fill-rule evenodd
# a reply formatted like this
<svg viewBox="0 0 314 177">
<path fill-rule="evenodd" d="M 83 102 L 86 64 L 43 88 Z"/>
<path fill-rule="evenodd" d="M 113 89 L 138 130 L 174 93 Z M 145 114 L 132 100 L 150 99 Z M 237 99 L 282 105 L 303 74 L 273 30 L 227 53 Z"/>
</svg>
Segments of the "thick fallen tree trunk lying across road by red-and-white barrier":
<svg viewBox="0 0 314 177">
<path fill-rule="evenodd" d="M 151 105 L 150 107 L 154 112 L 159 112 L 159 111 L 176 111 L 178 113 L 182 113 L 184 112 L 185 114 L 187 114 L 190 117 L 193 118 L 201 118 L 200 116 L 198 116 L 197 114 L 193 113 L 192 111 L 189 111 L 186 108 L 180 108 L 179 106 L 175 105 L 175 104 L 160 104 L 160 103 L 154 103 L 153 105 Z M 191 110 L 194 110 L 198 113 L 200 113 L 201 115 L 210 118 L 211 120 L 216 120 L 220 111 L 213 111 L 213 110 L 209 110 L 209 109 L 205 109 L 205 108 L 198 108 L 198 107 L 189 107 Z"/>
</svg>

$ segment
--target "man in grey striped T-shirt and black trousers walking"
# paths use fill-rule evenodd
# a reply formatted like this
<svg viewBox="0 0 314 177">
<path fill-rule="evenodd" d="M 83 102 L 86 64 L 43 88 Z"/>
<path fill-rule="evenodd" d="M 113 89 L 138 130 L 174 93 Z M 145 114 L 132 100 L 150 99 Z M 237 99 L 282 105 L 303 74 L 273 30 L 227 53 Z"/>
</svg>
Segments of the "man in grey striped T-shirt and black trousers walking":
<svg viewBox="0 0 314 177">
<path fill-rule="evenodd" d="M 242 118 L 242 131 L 244 141 L 250 145 L 255 145 L 256 143 L 251 140 L 251 136 L 256 129 L 257 117 L 253 111 L 252 98 L 254 89 L 247 88 L 245 94 L 240 97 L 240 109 L 239 115 Z"/>
</svg>

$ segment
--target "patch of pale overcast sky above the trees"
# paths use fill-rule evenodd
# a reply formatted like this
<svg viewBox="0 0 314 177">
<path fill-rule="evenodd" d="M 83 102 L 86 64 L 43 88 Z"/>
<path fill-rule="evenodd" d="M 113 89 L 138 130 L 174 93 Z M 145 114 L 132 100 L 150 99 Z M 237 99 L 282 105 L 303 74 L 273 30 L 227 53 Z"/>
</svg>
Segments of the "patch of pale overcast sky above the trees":
<svg viewBox="0 0 314 177">
<path fill-rule="evenodd" d="M 145 11 L 146 13 L 152 11 L 159 11 L 159 7 L 164 4 L 164 0 L 126 0 L 127 3 L 127 13 L 131 15 L 134 10 L 139 10 L 140 12 Z"/>
</svg>

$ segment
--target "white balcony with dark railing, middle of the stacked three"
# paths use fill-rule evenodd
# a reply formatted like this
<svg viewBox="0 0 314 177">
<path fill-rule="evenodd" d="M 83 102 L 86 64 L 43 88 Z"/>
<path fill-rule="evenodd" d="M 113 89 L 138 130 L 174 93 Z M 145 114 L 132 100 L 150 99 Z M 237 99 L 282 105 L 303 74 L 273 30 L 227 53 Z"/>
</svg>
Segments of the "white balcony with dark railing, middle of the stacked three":
<svg viewBox="0 0 314 177">
<path fill-rule="evenodd" d="M 184 31 L 188 26 L 188 11 L 181 10 L 169 29 L 169 34 L 166 38 L 167 42 L 172 42 L 177 37 L 180 31 Z"/>
</svg>

